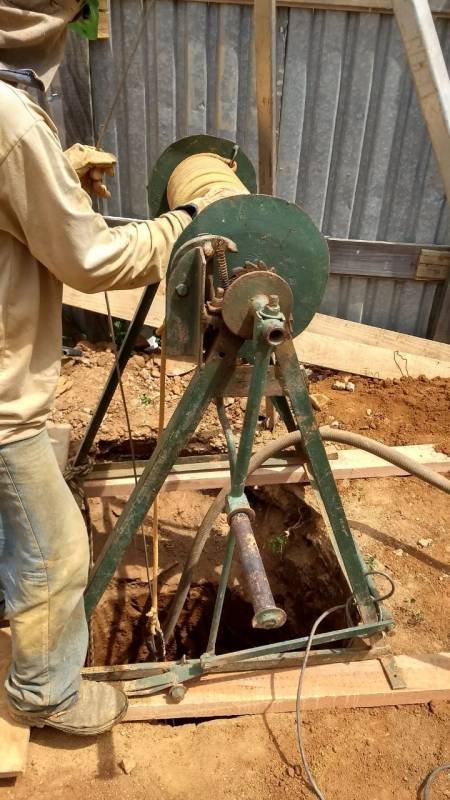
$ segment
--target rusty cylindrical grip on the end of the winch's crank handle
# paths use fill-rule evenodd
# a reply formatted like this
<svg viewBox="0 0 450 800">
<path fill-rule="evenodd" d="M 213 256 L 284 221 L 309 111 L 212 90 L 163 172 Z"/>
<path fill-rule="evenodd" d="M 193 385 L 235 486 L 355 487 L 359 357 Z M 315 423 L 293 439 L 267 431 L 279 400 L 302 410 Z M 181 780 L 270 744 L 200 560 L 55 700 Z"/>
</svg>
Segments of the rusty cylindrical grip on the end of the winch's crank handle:
<svg viewBox="0 0 450 800">
<path fill-rule="evenodd" d="M 230 528 L 236 540 L 239 559 L 255 612 L 252 620 L 253 627 L 265 630 L 281 628 L 286 622 L 286 614 L 283 609 L 277 608 L 275 605 L 248 514 L 242 511 L 233 514 Z"/>
</svg>

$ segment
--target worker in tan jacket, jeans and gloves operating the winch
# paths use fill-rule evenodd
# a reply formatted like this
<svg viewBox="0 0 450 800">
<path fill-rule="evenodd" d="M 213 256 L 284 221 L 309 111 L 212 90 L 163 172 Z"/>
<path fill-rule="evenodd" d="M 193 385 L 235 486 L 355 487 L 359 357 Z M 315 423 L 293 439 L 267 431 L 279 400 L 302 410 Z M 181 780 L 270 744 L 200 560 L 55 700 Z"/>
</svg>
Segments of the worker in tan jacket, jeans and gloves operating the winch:
<svg viewBox="0 0 450 800">
<path fill-rule="evenodd" d="M 46 90 L 84 0 L 0 0 L 0 603 L 9 620 L 8 709 L 19 723 L 98 734 L 127 699 L 81 680 L 88 539 L 46 431 L 59 374 L 62 285 L 81 292 L 160 281 L 177 237 L 222 195 L 207 190 L 156 220 L 109 229 L 56 128 L 28 93 Z M 83 185 L 105 193 L 114 159 L 77 145 Z M 90 159 L 89 156 L 92 156 Z"/>
</svg>

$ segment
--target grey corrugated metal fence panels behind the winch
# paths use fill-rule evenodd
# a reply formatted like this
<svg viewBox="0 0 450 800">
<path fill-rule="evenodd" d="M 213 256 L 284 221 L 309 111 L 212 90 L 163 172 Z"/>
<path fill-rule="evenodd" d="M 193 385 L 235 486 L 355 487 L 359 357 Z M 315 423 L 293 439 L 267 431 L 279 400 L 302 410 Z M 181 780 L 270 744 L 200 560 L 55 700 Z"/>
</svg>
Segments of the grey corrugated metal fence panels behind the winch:
<svg viewBox="0 0 450 800">
<path fill-rule="evenodd" d="M 112 0 L 90 48 L 98 131 L 136 39 L 140 0 Z M 450 60 L 449 22 L 438 33 Z M 446 243 L 442 184 L 392 15 L 277 12 L 277 193 L 325 234 Z M 156 0 L 103 140 L 119 156 L 108 212 L 149 213 L 147 177 L 174 139 L 236 139 L 256 163 L 252 8 Z M 105 209 L 106 210 L 106 209 Z M 332 276 L 326 313 L 425 335 L 437 284 Z"/>
</svg>

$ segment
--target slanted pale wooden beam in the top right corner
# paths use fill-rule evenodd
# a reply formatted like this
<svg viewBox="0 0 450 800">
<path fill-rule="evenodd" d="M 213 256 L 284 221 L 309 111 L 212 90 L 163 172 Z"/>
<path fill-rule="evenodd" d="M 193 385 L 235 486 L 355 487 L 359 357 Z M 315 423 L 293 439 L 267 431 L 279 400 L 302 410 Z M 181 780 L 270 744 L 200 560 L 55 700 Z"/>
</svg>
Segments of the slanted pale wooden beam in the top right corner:
<svg viewBox="0 0 450 800">
<path fill-rule="evenodd" d="M 450 203 L 450 79 L 428 0 L 392 0 L 422 113 Z"/>
</svg>

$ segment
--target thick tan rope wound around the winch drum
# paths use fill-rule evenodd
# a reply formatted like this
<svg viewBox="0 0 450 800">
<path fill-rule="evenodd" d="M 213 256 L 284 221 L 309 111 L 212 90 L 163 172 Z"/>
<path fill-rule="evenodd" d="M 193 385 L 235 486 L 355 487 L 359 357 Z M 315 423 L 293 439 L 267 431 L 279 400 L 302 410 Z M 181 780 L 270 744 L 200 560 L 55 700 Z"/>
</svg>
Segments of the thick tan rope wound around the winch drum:
<svg viewBox="0 0 450 800">
<path fill-rule="evenodd" d="M 237 177 L 236 164 L 214 153 L 185 158 L 172 172 L 167 184 L 169 208 L 188 208 L 200 213 L 223 197 L 249 194 Z"/>
</svg>

